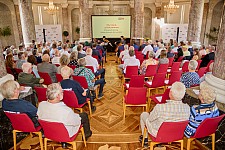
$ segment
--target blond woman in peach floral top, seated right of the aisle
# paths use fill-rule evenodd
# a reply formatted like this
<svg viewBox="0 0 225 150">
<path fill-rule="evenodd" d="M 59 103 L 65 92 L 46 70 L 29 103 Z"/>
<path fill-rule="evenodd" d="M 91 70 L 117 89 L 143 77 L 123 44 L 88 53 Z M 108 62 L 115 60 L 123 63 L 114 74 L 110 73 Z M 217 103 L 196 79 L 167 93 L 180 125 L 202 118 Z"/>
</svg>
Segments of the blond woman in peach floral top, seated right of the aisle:
<svg viewBox="0 0 225 150">
<path fill-rule="evenodd" d="M 140 73 L 145 74 L 148 65 L 157 65 L 158 61 L 154 59 L 155 53 L 153 51 L 149 51 L 148 59 L 144 60 L 140 66 Z"/>
</svg>

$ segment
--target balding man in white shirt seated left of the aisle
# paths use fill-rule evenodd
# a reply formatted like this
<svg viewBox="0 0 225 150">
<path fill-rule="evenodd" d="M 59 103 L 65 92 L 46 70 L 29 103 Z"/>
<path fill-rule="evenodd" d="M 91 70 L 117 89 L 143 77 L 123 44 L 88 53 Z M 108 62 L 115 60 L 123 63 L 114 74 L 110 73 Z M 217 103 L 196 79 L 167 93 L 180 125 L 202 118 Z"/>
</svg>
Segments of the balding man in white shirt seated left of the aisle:
<svg viewBox="0 0 225 150">
<path fill-rule="evenodd" d="M 98 60 L 92 57 L 92 49 L 88 48 L 86 50 L 86 54 L 87 55 L 84 57 L 86 61 L 86 66 L 93 66 L 95 76 L 101 75 L 101 78 L 105 78 L 105 69 L 99 69 Z"/>
</svg>

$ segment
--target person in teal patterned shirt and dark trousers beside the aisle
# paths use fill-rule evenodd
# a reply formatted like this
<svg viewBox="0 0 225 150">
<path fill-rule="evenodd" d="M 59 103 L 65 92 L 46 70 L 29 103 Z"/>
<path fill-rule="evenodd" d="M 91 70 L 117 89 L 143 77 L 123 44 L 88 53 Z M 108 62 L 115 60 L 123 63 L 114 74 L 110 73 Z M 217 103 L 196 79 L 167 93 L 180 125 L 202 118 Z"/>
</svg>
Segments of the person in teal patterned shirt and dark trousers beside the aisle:
<svg viewBox="0 0 225 150">
<path fill-rule="evenodd" d="M 89 89 L 93 89 L 95 85 L 100 85 L 98 99 L 103 97 L 103 87 L 105 85 L 105 79 L 101 78 L 95 80 L 95 75 L 92 73 L 91 69 L 85 67 L 86 61 L 85 58 L 81 58 L 78 60 L 79 68 L 74 69 L 74 75 L 76 76 L 84 76 L 87 80 Z M 97 94 L 97 93 L 96 93 Z"/>
</svg>

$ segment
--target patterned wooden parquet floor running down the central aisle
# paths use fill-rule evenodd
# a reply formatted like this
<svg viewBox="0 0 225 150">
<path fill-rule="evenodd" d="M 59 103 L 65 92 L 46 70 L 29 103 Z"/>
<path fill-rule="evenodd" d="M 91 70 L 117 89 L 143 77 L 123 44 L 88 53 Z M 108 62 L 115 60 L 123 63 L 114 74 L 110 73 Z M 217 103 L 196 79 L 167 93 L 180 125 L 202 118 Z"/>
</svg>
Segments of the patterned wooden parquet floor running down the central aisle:
<svg viewBox="0 0 225 150">
<path fill-rule="evenodd" d="M 111 54 L 112 55 L 112 54 Z M 141 134 L 139 127 L 140 114 L 143 109 L 138 107 L 127 108 L 126 119 L 123 120 L 122 92 L 120 72 L 118 65 L 115 63 L 114 56 L 108 55 L 108 62 L 104 64 L 106 69 L 106 85 L 104 87 L 104 97 L 101 100 L 95 100 L 97 110 L 90 119 L 92 137 L 88 139 L 85 148 L 81 136 L 78 137 L 78 150 L 98 150 L 99 147 L 109 144 L 120 150 L 139 150 L 142 149 L 138 141 Z M 37 137 L 27 136 L 18 143 L 18 149 L 40 149 Z M 52 143 L 48 146 L 48 150 L 60 150 L 60 144 Z M 167 149 L 179 149 L 177 145 Z M 197 148 L 194 149 L 202 149 Z"/>
</svg>

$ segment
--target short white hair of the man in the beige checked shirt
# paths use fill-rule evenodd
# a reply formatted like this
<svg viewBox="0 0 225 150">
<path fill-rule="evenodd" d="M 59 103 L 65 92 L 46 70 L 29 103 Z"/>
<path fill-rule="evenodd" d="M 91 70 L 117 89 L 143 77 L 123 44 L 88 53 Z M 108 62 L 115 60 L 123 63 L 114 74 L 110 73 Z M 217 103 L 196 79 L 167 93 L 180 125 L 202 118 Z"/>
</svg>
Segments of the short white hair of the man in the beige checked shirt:
<svg viewBox="0 0 225 150">
<path fill-rule="evenodd" d="M 174 100 L 181 100 L 186 92 L 186 87 L 181 82 L 175 82 L 172 84 L 170 92 L 173 95 Z"/>
</svg>

